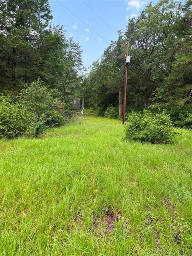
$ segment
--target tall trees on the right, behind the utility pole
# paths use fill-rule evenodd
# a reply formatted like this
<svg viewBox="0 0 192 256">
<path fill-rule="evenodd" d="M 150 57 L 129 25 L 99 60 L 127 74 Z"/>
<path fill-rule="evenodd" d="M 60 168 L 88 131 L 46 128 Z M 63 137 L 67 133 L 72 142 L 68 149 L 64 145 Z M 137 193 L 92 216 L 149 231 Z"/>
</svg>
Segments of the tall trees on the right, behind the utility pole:
<svg viewBox="0 0 192 256">
<path fill-rule="evenodd" d="M 94 62 L 84 80 L 87 108 L 122 115 L 126 42 L 126 111 L 165 110 L 174 124 L 192 127 L 192 1 L 150 3 L 128 22 L 125 33 Z M 117 109 L 118 108 L 118 109 Z M 107 110 L 107 111 L 106 111 Z"/>
</svg>

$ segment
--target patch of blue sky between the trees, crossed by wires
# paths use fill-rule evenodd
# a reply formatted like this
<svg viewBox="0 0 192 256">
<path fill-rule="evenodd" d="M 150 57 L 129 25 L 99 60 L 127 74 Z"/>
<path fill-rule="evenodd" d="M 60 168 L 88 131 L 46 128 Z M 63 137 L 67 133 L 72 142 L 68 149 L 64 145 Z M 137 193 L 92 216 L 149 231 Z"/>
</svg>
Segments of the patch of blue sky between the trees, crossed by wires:
<svg viewBox="0 0 192 256">
<path fill-rule="evenodd" d="M 82 0 L 58 0 L 81 20 L 93 28 L 108 42 L 117 36 L 110 30 Z M 114 31 L 125 31 L 128 19 L 135 17 L 150 0 L 84 0 Z M 155 4 L 157 1 L 152 0 Z M 64 25 L 67 37 L 73 36 L 74 41 L 82 46 L 83 64 L 87 68 L 97 60 L 109 45 L 103 38 L 88 26 L 74 17 L 56 0 L 50 0 L 53 20 L 52 24 Z"/>
</svg>

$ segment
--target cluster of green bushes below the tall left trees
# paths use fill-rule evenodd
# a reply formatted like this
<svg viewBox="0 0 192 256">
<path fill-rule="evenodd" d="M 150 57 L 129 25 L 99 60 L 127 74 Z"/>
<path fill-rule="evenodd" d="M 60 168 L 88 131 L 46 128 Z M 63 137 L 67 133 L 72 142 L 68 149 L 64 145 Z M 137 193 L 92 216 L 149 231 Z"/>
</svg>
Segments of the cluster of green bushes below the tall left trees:
<svg viewBox="0 0 192 256">
<path fill-rule="evenodd" d="M 24 86 L 15 99 L 0 97 L 0 138 L 23 134 L 37 137 L 47 127 L 75 119 L 68 116 L 68 104 L 57 98 L 57 91 L 49 90 L 41 80 Z"/>
</svg>

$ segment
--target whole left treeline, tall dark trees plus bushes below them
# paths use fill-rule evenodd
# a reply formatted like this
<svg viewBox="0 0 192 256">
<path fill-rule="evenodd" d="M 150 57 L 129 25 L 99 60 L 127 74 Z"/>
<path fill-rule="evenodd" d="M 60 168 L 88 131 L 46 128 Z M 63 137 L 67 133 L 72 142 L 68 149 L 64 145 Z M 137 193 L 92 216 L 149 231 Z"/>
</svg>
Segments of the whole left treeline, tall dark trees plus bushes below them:
<svg viewBox="0 0 192 256">
<path fill-rule="evenodd" d="M 48 0 L 0 1 L 1 138 L 38 135 L 70 117 L 68 96 L 82 83 L 82 50 L 51 20 Z"/>
</svg>

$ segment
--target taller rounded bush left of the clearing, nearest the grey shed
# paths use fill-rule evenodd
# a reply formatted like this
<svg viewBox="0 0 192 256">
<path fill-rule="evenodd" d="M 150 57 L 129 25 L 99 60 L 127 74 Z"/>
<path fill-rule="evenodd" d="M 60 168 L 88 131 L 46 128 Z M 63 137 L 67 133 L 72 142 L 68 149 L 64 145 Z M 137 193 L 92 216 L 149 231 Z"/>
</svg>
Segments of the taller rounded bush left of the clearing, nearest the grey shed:
<svg viewBox="0 0 192 256">
<path fill-rule="evenodd" d="M 54 92 L 55 93 L 55 92 Z M 44 122 L 47 126 L 60 125 L 65 121 L 63 104 L 54 98 L 41 80 L 32 82 L 22 90 L 22 98 L 30 112 L 36 116 L 36 122 Z"/>
</svg>

